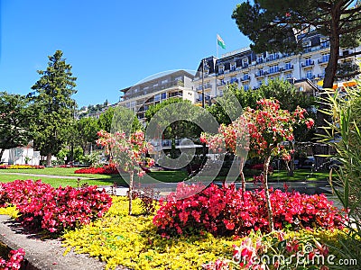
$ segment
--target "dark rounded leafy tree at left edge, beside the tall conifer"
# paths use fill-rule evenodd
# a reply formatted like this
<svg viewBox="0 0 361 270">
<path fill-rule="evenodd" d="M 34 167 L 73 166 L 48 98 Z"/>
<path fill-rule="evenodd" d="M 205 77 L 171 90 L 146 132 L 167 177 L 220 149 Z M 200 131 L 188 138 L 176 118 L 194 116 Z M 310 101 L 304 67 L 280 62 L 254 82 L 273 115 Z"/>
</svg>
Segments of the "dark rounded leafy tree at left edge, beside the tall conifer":
<svg viewBox="0 0 361 270">
<path fill-rule="evenodd" d="M 24 95 L 0 92 L 0 160 L 5 149 L 28 144 L 31 118 L 29 100 Z"/>
</svg>

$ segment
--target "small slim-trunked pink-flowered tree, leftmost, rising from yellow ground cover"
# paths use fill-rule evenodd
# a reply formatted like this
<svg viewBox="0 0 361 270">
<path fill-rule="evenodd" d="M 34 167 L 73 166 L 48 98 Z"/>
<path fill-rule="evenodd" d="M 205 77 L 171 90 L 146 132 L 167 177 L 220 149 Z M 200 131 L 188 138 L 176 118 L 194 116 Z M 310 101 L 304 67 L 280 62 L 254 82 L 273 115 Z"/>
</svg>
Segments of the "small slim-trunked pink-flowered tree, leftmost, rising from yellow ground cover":
<svg viewBox="0 0 361 270">
<path fill-rule="evenodd" d="M 138 130 L 128 136 L 124 131 L 112 134 L 105 130 L 100 130 L 97 132 L 97 135 L 99 136 L 97 144 L 104 146 L 107 153 L 111 152 L 114 157 L 113 161 L 116 165 L 130 176 L 128 198 L 129 215 L 131 215 L 134 173 L 137 173 L 140 177 L 145 174 L 140 166 L 144 161 L 147 162 L 149 166 L 153 165 L 152 158 L 144 157 L 148 149 L 144 133 L 143 131 Z"/>
</svg>

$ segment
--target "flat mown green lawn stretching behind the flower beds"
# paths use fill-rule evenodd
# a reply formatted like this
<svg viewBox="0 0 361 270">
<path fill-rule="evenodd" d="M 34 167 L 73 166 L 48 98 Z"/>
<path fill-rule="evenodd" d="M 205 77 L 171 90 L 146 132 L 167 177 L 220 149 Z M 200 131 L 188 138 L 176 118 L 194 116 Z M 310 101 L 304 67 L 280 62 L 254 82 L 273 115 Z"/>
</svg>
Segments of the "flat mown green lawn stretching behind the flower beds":
<svg viewBox="0 0 361 270">
<path fill-rule="evenodd" d="M 77 179 L 66 179 L 66 178 L 51 178 L 46 176 L 29 176 L 29 175 L 20 175 L 20 174 L 32 174 L 32 175 L 60 175 L 60 176 L 75 176 L 75 177 L 86 177 L 88 179 L 80 180 L 80 184 L 97 184 L 97 185 L 112 185 L 116 183 L 117 185 L 126 185 L 125 181 L 120 175 L 86 175 L 86 174 L 74 174 L 74 171 L 77 168 L 60 168 L 60 167 L 46 167 L 44 169 L 1 169 L 0 170 L 0 182 L 11 182 L 15 179 L 42 179 L 42 182 L 51 184 L 52 186 L 58 187 L 59 185 L 71 185 L 77 186 Z M 5 175 L 2 173 L 18 173 L 19 175 Z M 187 178 L 187 173 L 184 171 L 159 171 L 149 173 L 153 178 L 166 182 L 166 183 L 175 183 L 183 181 Z M 311 173 L 310 170 L 296 170 L 294 176 L 287 176 L 286 171 L 275 171 L 273 175 L 270 175 L 269 181 L 278 182 L 278 181 L 304 181 L 304 180 L 327 180 L 329 177 L 328 172 L 317 172 Z M 222 182 L 225 177 L 218 176 L 215 180 Z M 247 181 L 253 181 L 253 177 L 246 177 Z M 134 179 L 136 180 L 136 179 Z M 240 180 L 238 178 L 238 180 Z"/>
</svg>

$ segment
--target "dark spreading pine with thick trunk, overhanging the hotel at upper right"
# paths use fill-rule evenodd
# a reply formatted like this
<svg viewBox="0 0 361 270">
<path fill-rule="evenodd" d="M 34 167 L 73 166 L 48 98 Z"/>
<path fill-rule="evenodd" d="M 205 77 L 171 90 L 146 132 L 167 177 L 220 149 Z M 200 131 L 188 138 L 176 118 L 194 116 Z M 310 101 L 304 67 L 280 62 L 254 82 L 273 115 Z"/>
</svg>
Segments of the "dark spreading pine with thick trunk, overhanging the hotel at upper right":
<svg viewBox="0 0 361 270">
<path fill-rule="evenodd" d="M 236 24 L 256 52 L 301 51 L 304 31 L 329 37 L 329 64 L 324 88 L 332 88 L 338 68 L 339 48 L 360 42 L 361 5 L 358 1 L 249 0 L 237 4 L 232 14 Z"/>
</svg>

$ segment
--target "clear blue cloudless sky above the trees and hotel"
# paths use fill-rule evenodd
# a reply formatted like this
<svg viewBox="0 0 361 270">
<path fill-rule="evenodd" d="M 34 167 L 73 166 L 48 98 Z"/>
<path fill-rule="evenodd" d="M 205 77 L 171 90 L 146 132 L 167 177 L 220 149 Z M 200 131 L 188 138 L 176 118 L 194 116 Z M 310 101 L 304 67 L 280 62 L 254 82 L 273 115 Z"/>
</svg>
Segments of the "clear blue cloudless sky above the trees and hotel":
<svg viewBox="0 0 361 270">
<path fill-rule="evenodd" d="M 119 90 L 171 69 L 194 70 L 249 45 L 231 14 L 241 0 L 0 0 L 0 91 L 28 94 L 48 56 L 63 51 L 79 107 L 116 103 Z"/>
</svg>

